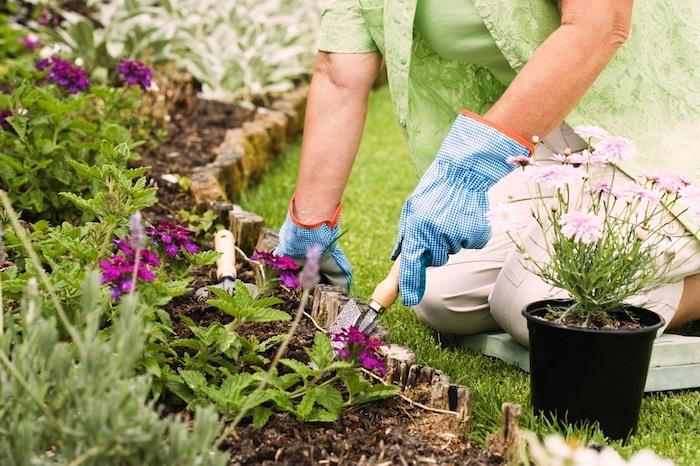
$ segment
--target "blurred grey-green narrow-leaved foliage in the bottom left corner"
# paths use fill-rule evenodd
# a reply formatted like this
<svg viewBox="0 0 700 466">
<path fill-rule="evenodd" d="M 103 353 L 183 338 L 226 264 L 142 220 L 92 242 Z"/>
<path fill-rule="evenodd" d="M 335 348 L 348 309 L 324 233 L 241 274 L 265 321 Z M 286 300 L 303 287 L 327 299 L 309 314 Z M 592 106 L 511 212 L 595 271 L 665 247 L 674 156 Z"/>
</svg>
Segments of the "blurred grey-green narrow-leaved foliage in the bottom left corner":
<svg viewBox="0 0 700 466">
<path fill-rule="evenodd" d="M 0 464 L 224 465 L 210 410 L 188 425 L 163 418 L 137 376 L 146 334 L 136 299 L 101 329 L 99 275 L 88 274 L 79 338 L 66 343 L 53 309 L 25 296 L 0 338 Z"/>
</svg>

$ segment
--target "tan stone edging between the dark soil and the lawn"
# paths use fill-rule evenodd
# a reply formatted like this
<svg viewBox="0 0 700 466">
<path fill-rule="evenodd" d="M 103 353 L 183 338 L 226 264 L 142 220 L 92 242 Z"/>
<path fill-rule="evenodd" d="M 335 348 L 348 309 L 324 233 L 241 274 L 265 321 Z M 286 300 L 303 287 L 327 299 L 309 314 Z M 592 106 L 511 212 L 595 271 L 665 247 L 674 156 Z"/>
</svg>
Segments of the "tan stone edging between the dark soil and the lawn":
<svg viewBox="0 0 700 466">
<path fill-rule="evenodd" d="M 214 149 L 215 160 L 197 167 L 190 175 L 191 190 L 198 206 L 237 199 L 289 144 L 304 125 L 309 87 L 283 94 L 270 108 L 258 108 L 252 121 L 226 131 Z"/>
</svg>

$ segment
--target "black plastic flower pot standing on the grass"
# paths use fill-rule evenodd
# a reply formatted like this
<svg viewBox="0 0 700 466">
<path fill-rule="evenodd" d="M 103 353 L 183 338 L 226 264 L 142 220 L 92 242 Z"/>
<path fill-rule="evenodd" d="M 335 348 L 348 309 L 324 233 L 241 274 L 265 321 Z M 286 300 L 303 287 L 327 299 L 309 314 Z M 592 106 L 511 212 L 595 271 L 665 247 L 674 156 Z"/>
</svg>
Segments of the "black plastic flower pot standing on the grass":
<svg viewBox="0 0 700 466">
<path fill-rule="evenodd" d="M 565 424 L 597 423 L 611 439 L 626 439 L 639 421 L 651 349 L 664 319 L 627 307 L 636 329 L 597 330 L 556 324 L 538 301 L 523 309 L 530 335 L 530 390 L 535 414 Z"/>
</svg>

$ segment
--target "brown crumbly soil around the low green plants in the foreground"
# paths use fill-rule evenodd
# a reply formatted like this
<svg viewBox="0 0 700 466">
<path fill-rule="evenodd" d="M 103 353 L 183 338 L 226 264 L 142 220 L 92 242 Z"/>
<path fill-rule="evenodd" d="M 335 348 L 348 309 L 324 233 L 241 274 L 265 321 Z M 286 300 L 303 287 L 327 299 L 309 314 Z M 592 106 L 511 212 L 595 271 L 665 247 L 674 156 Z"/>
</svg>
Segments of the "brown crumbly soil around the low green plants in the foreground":
<svg viewBox="0 0 700 466">
<path fill-rule="evenodd" d="M 239 275 L 248 274 L 241 269 Z M 201 269 L 193 278 L 194 289 L 216 283 L 213 267 Z M 278 291 L 277 295 L 284 299 L 280 307 L 294 313 L 298 305 L 297 295 L 285 290 Z M 173 318 L 174 338 L 192 336 L 181 320 L 184 315 L 199 325 L 231 321 L 230 316 L 197 301 L 194 292 L 173 300 L 168 311 Z M 286 333 L 289 325 L 290 322 L 243 325 L 239 332 L 247 337 L 255 335 L 261 341 Z M 285 357 L 306 360 L 304 348 L 313 344 L 316 331 L 311 320 L 303 318 Z M 272 357 L 272 354 L 267 356 Z M 425 404 L 429 390 L 419 387 L 405 395 Z M 173 406 L 164 408 L 164 412 L 170 413 L 179 409 Z M 293 416 L 281 414 L 273 417 L 262 429 L 241 425 L 222 448 L 231 454 L 232 465 L 505 464 L 502 457 L 460 439 L 453 422 L 452 416 L 426 411 L 394 397 L 350 409 L 332 424 L 303 423 Z"/>
</svg>

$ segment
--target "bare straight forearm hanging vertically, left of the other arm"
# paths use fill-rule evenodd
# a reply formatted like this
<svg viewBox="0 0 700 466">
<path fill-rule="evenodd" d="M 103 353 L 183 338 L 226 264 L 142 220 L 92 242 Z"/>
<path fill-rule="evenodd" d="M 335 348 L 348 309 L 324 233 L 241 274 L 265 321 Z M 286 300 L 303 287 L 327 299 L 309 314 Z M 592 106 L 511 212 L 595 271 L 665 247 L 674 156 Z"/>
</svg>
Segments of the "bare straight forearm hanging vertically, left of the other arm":
<svg viewBox="0 0 700 466">
<path fill-rule="evenodd" d="M 340 203 L 380 63 L 378 53 L 318 53 L 295 194 L 296 216 L 302 223 L 329 220 Z"/>
</svg>

